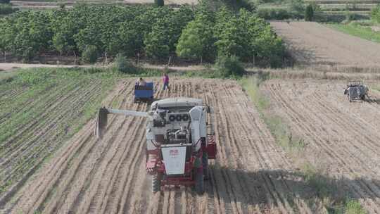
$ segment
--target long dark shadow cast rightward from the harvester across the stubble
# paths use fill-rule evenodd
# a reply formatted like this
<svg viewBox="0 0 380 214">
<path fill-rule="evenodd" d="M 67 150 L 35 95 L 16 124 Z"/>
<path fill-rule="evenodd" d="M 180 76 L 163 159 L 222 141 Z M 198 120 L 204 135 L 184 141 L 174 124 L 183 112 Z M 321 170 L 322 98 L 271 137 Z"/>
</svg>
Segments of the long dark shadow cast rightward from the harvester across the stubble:
<svg viewBox="0 0 380 214">
<path fill-rule="evenodd" d="M 379 180 L 336 179 L 286 170 L 251 172 L 210 165 L 210 180 L 205 184 L 205 194 L 209 200 L 216 198 L 222 203 L 226 213 L 233 213 L 236 204 L 242 210 L 290 207 L 302 213 L 299 207 L 305 203 L 312 213 L 320 213 L 324 208 L 341 205 L 346 199 L 376 199 L 379 187 Z"/>
</svg>

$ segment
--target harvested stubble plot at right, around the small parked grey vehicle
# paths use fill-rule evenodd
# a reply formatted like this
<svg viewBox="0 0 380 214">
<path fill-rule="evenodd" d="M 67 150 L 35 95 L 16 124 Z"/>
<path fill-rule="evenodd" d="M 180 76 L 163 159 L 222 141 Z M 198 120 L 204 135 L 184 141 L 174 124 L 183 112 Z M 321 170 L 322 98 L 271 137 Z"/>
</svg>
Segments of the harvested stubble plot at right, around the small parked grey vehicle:
<svg viewBox="0 0 380 214">
<path fill-rule="evenodd" d="M 380 93 L 349 103 L 344 82 L 270 80 L 262 92 L 310 149 L 306 158 L 327 170 L 346 196 L 359 199 L 369 213 L 380 207 Z"/>
</svg>

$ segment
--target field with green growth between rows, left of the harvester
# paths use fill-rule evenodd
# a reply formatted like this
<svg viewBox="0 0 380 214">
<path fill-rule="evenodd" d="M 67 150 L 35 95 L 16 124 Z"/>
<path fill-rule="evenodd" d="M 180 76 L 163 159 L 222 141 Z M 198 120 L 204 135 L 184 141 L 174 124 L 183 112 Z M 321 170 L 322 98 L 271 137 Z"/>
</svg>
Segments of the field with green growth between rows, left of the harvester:
<svg viewBox="0 0 380 214">
<path fill-rule="evenodd" d="M 113 86 L 107 73 L 0 72 L 0 196 L 18 188 L 86 123 Z"/>
</svg>

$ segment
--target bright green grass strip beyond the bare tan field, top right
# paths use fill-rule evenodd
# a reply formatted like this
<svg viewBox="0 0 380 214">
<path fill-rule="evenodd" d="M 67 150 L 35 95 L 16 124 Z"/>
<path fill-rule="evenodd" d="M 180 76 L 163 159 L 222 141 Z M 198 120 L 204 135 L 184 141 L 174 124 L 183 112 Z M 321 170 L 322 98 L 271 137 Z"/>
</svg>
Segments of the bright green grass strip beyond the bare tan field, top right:
<svg viewBox="0 0 380 214">
<path fill-rule="evenodd" d="M 374 32 L 370 27 L 343 24 L 329 24 L 327 26 L 346 34 L 353 35 L 355 37 L 360 37 L 362 39 L 380 43 L 380 32 Z"/>
</svg>

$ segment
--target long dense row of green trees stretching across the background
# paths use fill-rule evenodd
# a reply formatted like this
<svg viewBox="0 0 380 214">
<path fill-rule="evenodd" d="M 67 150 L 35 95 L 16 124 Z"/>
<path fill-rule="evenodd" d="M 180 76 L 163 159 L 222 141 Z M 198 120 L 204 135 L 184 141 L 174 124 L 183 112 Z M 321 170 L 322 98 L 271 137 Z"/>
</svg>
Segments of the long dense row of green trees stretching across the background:
<svg viewBox="0 0 380 214">
<path fill-rule="evenodd" d="M 51 12 L 19 11 L 0 20 L 0 51 L 30 60 L 43 52 L 96 58 L 176 54 L 213 62 L 217 55 L 281 65 L 284 47 L 254 13 L 207 4 L 179 9 L 151 6 L 88 6 Z"/>
</svg>

